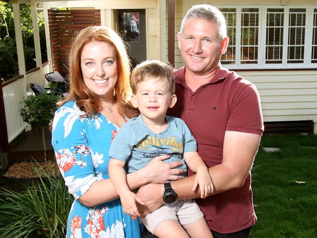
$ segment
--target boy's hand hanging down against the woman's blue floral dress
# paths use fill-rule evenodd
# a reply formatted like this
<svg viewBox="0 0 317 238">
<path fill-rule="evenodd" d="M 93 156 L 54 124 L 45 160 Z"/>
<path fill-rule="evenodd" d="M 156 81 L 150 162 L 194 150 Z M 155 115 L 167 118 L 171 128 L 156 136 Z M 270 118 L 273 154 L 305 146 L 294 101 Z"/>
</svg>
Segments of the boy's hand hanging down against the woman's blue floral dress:
<svg viewBox="0 0 317 238">
<path fill-rule="evenodd" d="M 120 194 L 123 212 L 131 217 L 140 217 L 136 201 L 144 205 L 144 202 L 135 193 L 126 191 Z"/>
</svg>

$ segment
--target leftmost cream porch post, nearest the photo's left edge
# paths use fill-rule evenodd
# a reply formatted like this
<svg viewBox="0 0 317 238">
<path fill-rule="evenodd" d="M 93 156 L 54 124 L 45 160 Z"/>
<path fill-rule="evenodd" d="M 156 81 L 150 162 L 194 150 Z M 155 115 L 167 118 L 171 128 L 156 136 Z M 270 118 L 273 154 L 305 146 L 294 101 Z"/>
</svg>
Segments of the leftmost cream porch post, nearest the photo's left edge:
<svg viewBox="0 0 317 238">
<path fill-rule="evenodd" d="M 13 8 L 13 19 L 14 19 L 14 30 L 16 33 L 16 44 L 18 52 L 18 64 L 19 64 L 19 74 L 26 75 L 25 70 L 25 60 L 24 60 L 24 50 L 23 50 L 23 40 L 21 31 L 21 20 L 20 20 L 20 3 L 19 0 L 12 0 Z"/>
</svg>

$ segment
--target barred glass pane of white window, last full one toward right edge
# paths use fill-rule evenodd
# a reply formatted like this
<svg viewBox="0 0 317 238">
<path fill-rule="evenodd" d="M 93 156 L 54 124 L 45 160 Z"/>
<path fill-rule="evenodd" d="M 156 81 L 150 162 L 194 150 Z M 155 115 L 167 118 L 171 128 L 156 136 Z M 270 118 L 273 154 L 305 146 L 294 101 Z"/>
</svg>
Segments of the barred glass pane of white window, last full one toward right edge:
<svg viewBox="0 0 317 238">
<path fill-rule="evenodd" d="M 306 9 L 290 9 L 288 28 L 287 62 L 304 62 Z"/>
</svg>

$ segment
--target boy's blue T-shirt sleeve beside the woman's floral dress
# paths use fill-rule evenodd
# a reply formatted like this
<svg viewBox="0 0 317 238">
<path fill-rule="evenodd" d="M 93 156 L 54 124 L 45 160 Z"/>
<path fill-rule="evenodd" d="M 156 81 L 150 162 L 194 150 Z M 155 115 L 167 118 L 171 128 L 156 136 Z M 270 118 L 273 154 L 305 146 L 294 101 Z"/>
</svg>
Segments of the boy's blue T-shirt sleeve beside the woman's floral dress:
<svg viewBox="0 0 317 238">
<path fill-rule="evenodd" d="M 129 141 L 132 137 L 133 133 L 129 126 L 126 124 L 122 125 L 110 145 L 109 156 L 114 159 L 126 161 L 132 153 L 133 145 L 131 145 L 131 141 Z"/>
</svg>

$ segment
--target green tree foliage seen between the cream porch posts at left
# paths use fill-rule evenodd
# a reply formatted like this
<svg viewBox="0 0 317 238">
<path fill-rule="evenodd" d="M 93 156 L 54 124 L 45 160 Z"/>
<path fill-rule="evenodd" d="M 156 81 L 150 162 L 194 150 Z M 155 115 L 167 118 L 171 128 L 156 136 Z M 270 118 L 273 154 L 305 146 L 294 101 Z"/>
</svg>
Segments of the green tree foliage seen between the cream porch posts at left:
<svg viewBox="0 0 317 238">
<path fill-rule="evenodd" d="M 36 67 L 31 7 L 20 4 L 21 31 L 24 48 L 25 68 Z M 44 16 L 38 13 L 42 62 L 47 61 Z M 16 36 L 12 5 L 0 1 L 0 75 L 6 80 L 19 75 Z"/>
</svg>

